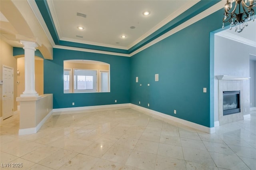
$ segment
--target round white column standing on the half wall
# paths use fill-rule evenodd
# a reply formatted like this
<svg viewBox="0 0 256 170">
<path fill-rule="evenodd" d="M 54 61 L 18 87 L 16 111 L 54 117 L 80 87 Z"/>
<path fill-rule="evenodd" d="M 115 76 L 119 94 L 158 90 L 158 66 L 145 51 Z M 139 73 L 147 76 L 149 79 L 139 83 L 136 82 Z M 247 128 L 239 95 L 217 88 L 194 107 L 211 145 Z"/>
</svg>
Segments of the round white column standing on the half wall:
<svg viewBox="0 0 256 170">
<path fill-rule="evenodd" d="M 35 91 L 35 42 L 20 41 L 25 51 L 25 91 L 20 97 L 38 96 Z"/>
</svg>

